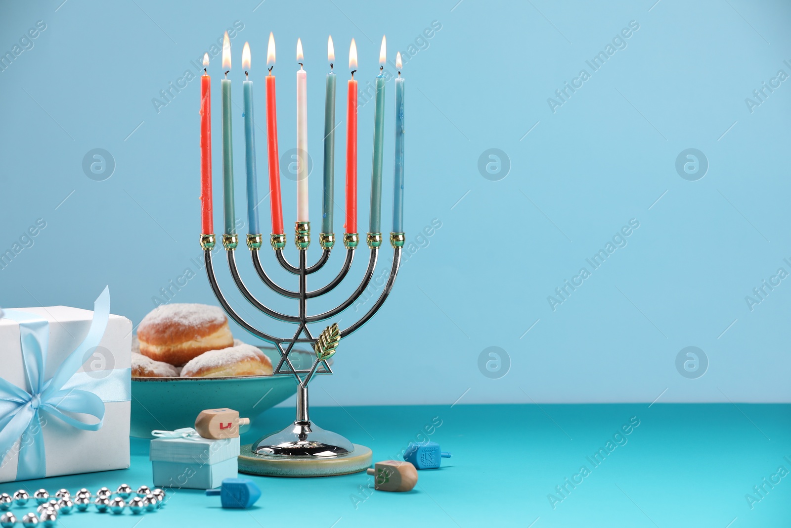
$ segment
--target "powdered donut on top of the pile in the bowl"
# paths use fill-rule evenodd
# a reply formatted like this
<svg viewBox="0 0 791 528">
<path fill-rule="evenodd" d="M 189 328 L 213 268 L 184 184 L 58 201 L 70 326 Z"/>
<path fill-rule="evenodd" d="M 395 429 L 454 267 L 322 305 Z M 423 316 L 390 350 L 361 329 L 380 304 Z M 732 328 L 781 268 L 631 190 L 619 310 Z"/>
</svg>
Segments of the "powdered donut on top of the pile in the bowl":
<svg viewBox="0 0 791 528">
<path fill-rule="evenodd" d="M 228 318 L 218 306 L 157 306 L 138 325 L 140 353 L 180 367 L 205 351 L 233 346 Z"/>
</svg>

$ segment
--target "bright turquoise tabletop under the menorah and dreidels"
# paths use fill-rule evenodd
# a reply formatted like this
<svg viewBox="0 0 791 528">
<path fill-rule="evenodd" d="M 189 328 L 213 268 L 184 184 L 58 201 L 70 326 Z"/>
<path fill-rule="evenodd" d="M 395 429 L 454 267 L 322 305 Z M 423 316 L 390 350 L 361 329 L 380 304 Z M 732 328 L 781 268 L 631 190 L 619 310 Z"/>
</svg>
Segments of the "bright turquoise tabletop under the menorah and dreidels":
<svg viewBox="0 0 791 528">
<path fill-rule="evenodd" d="M 285 426 L 292 415 L 290 408 L 267 411 L 243 442 Z M 791 526 L 791 477 L 773 477 L 781 466 L 791 471 L 789 417 L 789 405 L 742 404 L 316 407 L 317 424 L 371 447 L 374 461 L 426 438 L 452 458 L 420 472 L 407 493 L 369 491 L 365 473 L 251 477 L 263 496 L 249 511 L 222 510 L 218 497 L 182 489 L 156 513 L 115 516 L 92 507 L 62 515 L 59 526 Z M 615 435 L 630 420 L 639 425 Z M 607 447 L 612 451 L 599 455 L 604 462 L 593 465 L 589 458 Z M 583 465 L 589 474 L 575 477 Z M 765 477 L 779 482 L 770 488 Z M 581 483 L 571 488 L 566 478 Z M 150 481 L 148 442 L 133 439 L 131 469 L 0 490 L 74 492 Z M 564 485 L 570 491 L 561 496 L 555 487 Z M 759 496 L 753 487 L 762 485 Z M 13 511 L 21 518 L 29 509 Z"/>
</svg>

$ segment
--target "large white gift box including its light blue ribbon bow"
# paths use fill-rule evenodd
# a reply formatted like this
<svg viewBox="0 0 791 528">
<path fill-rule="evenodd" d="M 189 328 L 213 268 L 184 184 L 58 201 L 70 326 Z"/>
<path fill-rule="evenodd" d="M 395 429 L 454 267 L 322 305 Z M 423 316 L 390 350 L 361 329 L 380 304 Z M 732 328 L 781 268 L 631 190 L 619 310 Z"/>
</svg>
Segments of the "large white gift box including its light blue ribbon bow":
<svg viewBox="0 0 791 528">
<path fill-rule="evenodd" d="M 0 314 L 0 482 L 129 467 L 131 332 L 107 289 L 93 312 Z"/>
</svg>

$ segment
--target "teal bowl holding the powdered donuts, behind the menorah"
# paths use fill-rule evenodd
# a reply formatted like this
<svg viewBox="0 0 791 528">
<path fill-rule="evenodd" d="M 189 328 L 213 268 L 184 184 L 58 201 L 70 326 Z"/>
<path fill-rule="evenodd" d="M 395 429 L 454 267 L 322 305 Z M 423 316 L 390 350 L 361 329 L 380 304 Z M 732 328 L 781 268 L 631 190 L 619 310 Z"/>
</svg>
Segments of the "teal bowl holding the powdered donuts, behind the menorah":
<svg viewBox="0 0 791 528">
<path fill-rule="evenodd" d="M 274 348 L 261 350 L 276 366 L 278 352 Z M 309 368 L 315 356 L 307 351 L 293 351 L 290 359 L 297 369 L 303 365 Z M 249 418 L 251 425 L 259 425 L 261 413 L 294 393 L 297 382 L 293 376 L 132 378 L 130 435 L 149 439 L 155 429 L 194 427 L 199 412 L 207 408 L 233 408 L 239 416 Z"/>
</svg>

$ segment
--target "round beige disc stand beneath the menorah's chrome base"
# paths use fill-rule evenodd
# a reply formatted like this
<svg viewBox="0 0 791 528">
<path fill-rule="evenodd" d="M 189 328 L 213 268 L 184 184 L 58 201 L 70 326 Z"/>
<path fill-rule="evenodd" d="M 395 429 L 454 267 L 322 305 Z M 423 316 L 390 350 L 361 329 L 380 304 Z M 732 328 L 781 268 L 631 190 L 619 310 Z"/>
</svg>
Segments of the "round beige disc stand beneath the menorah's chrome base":
<svg viewBox="0 0 791 528">
<path fill-rule="evenodd" d="M 315 426 L 312 428 L 315 428 Z M 370 467 L 373 460 L 371 450 L 356 443 L 351 444 L 352 450 L 349 453 L 334 457 L 255 454 L 252 450 L 254 445 L 241 446 L 239 455 L 240 473 L 263 475 L 265 477 L 332 477 L 365 471 L 365 469 Z"/>
</svg>

